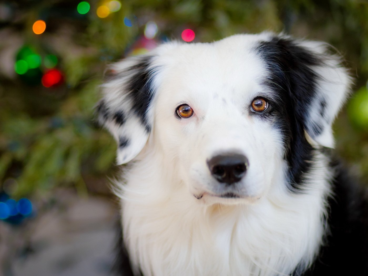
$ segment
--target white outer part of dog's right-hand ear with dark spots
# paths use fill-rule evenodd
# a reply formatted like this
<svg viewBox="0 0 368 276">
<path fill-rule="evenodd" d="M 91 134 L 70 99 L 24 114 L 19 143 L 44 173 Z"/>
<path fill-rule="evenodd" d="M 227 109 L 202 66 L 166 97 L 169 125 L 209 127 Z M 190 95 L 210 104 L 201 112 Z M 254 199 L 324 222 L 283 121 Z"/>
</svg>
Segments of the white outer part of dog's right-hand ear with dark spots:
<svg viewBox="0 0 368 276">
<path fill-rule="evenodd" d="M 315 93 L 309 103 L 305 130 L 318 144 L 333 148 L 332 124 L 350 94 L 352 78 L 341 64 L 340 57 L 330 54 L 327 45 L 320 42 L 301 42 L 314 53 Z"/>
</svg>

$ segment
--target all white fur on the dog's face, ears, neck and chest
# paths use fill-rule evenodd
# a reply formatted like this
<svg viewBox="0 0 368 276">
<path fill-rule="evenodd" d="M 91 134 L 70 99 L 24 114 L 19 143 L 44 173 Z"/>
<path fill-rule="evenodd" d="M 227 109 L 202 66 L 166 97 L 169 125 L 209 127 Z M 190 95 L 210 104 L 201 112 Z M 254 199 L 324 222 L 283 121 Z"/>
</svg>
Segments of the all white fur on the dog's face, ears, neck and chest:
<svg viewBox="0 0 368 276">
<path fill-rule="evenodd" d="M 124 132 L 138 141 L 133 138 L 132 148 L 124 149 L 125 160 L 118 153 L 118 162 L 126 163 L 140 152 L 125 169 L 126 183 L 117 183 L 124 242 L 135 273 L 289 275 L 298 264 L 303 270 L 314 261 L 325 233 L 332 173 L 326 173 L 328 160 L 316 150 L 305 190 L 288 191 L 282 135 L 250 115 L 250 103 L 259 93 L 275 96 L 261 85 L 267 71 L 252 50 L 269 36 L 236 35 L 214 43 L 158 47 L 151 53 L 152 68 L 159 68 L 147 113 L 151 134 L 142 132 L 138 118 L 129 123 L 137 129 L 108 125 L 117 139 Z M 301 43 L 322 49 L 321 44 Z M 131 64 L 134 61 L 123 61 L 117 67 Z M 327 65 L 314 68 L 326 77 L 319 82 L 319 95 L 328 106 L 322 119 L 325 131 L 312 137 L 317 148 L 333 146 L 331 124 L 349 83 L 335 60 Z M 111 92 L 124 81 L 105 86 L 114 110 L 130 105 Z M 179 120 L 174 113 L 183 103 L 195 114 Z M 312 108 L 310 120 L 321 120 L 315 113 Z M 220 198 L 222 190 L 206 160 L 234 151 L 250 163 L 237 190 L 242 197 Z"/>
</svg>

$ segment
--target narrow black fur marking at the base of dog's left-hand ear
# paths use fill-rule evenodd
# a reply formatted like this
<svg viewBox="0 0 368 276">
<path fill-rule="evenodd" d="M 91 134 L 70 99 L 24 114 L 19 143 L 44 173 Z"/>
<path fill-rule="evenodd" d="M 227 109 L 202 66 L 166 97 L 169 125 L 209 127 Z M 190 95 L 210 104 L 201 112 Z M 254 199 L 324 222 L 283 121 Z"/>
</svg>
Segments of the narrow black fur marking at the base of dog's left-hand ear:
<svg viewBox="0 0 368 276">
<path fill-rule="evenodd" d="M 132 75 L 130 83 L 128 84 L 128 91 L 130 91 L 129 96 L 133 102 L 132 109 L 141 119 L 147 132 L 151 131 L 151 125 L 148 122 L 146 113 L 153 98 L 152 75 L 155 72 L 155 70 L 149 69 L 151 59 L 151 56 L 144 57 L 141 62 L 128 68 L 128 71 L 137 71 Z"/>
</svg>

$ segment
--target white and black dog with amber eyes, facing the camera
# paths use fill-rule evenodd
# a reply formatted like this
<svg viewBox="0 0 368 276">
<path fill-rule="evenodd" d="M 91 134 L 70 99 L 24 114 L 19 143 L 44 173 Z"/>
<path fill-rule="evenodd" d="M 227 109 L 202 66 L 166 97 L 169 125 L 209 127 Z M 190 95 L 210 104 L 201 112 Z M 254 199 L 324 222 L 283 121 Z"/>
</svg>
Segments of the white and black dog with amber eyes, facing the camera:
<svg viewBox="0 0 368 276">
<path fill-rule="evenodd" d="M 328 149 L 351 78 L 325 44 L 170 42 L 112 71 L 123 275 L 368 275 L 367 203 Z"/>
</svg>

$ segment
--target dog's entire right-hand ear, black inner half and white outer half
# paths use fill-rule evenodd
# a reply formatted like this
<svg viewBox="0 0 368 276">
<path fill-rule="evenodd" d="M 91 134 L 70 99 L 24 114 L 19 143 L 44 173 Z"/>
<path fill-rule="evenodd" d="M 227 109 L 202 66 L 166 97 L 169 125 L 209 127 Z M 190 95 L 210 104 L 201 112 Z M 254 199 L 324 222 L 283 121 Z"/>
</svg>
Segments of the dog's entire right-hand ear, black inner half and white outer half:
<svg viewBox="0 0 368 276">
<path fill-rule="evenodd" d="M 333 148 L 332 123 L 352 82 L 341 59 L 325 43 L 283 35 L 272 36 L 258 50 L 273 75 L 268 84 L 289 94 L 296 120 L 317 144 Z"/>
</svg>

